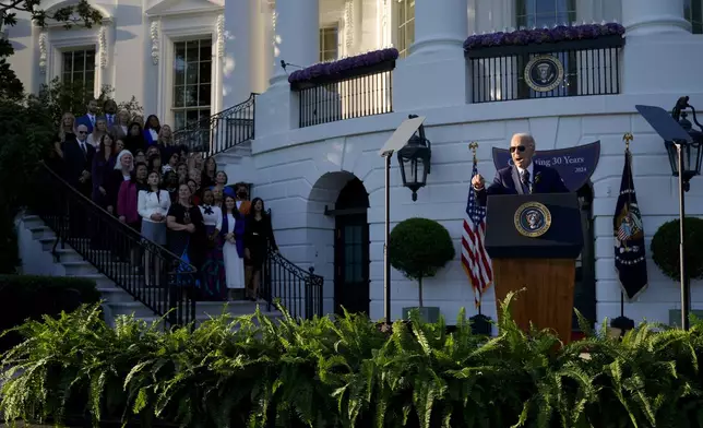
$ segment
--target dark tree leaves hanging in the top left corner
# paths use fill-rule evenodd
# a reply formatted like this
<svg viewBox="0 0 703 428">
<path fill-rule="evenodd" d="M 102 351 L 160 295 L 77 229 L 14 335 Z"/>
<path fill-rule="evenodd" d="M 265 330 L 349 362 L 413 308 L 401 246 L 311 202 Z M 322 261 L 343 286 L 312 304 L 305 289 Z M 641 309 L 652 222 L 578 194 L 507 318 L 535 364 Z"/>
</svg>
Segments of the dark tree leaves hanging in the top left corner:
<svg viewBox="0 0 703 428">
<path fill-rule="evenodd" d="M 91 28 L 103 21 L 103 15 L 87 0 L 51 11 L 41 8 L 41 0 L 0 0 L 0 29 L 15 26 L 19 14 L 24 14 L 35 25 L 46 27 L 50 22 L 62 23 L 64 28 L 82 25 Z M 10 67 L 9 58 L 14 47 L 9 39 L 0 37 L 0 98 L 19 100 L 24 96 L 24 86 Z"/>
</svg>

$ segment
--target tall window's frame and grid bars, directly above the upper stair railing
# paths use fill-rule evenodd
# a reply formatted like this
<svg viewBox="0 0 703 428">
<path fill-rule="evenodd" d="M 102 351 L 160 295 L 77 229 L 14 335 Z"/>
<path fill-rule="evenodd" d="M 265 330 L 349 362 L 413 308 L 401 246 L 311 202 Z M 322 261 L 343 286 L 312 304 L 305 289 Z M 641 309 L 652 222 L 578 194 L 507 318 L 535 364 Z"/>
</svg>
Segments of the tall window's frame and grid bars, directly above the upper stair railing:
<svg viewBox="0 0 703 428">
<path fill-rule="evenodd" d="M 211 48 L 210 61 L 203 60 L 200 57 L 200 52 L 202 50 L 202 46 L 200 44 L 203 40 L 210 40 L 210 48 Z M 198 46 L 199 57 L 198 57 L 198 61 L 195 62 L 195 63 L 198 63 L 198 79 L 196 79 L 198 83 L 194 84 L 194 85 L 198 86 L 198 96 L 196 96 L 196 98 L 198 98 L 196 104 L 198 105 L 196 106 L 186 106 L 186 99 L 184 99 L 184 96 L 183 96 L 183 106 L 176 107 L 176 88 L 177 88 L 177 86 L 181 86 L 182 91 L 186 91 L 186 88 L 189 86 L 188 83 L 187 83 L 187 79 L 188 79 L 187 78 L 187 67 L 183 70 L 183 83 L 181 83 L 181 84 L 176 83 L 176 64 L 175 64 L 175 62 L 176 62 L 177 45 L 183 44 L 184 52 L 187 52 L 189 41 L 198 41 L 199 43 L 199 46 Z M 168 85 L 168 92 L 169 92 L 168 112 L 169 112 L 169 116 L 171 118 L 170 122 L 172 123 L 172 128 L 175 130 L 182 129 L 183 127 L 187 127 L 190 123 L 192 123 L 191 121 L 188 120 L 188 112 L 189 111 L 198 111 L 199 114 L 198 114 L 196 121 L 200 121 L 200 120 L 205 119 L 206 117 L 208 118 L 208 117 L 213 116 L 214 115 L 213 110 L 217 109 L 217 106 L 216 106 L 216 103 L 215 103 L 216 100 L 214 99 L 214 96 L 215 96 L 215 93 L 216 93 L 215 92 L 215 86 L 217 84 L 216 79 L 215 79 L 215 68 L 217 67 L 217 62 L 216 62 L 215 55 L 213 52 L 214 47 L 215 47 L 215 38 L 212 35 L 207 35 L 207 34 L 178 37 L 178 38 L 172 38 L 170 40 L 171 56 L 170 56 L 170 61 L 168 61 L 168 63 L 170 66 L 169 67 L 169 78 L 170 79 L 169 79 L 169 85 Z M 186 64 L 188 64 L 188 62 L 189 62 L 188 57 L 186 56 L 184 58 L 186 58 Z M 200 75 L 201 74 L 200 73 L 200 66 L 202 63 L 207 63 L 207 62 L 210 62 L 210 81 L 208 82 L 202 82 L 201 75 Z M 210 104 L 207 106 L 201 106 L 200 105 L 200 91 L 201 91 L 201 87 L 203 85 L 210 85 Z M 201 114 L 202 111 L 207 111 L 207 115 L 203 116 Z M 180 114 L 183 115 L 183 122 L 182 123 L 179 123 L 176 120 L 176 118 Z"/>
</svg>

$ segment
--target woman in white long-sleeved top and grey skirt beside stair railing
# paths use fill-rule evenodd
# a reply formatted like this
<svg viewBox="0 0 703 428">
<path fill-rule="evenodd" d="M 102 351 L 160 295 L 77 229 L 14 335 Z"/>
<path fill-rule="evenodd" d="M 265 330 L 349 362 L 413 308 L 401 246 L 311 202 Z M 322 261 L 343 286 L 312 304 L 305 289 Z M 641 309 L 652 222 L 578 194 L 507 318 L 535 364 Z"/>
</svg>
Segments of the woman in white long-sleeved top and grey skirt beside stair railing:
<svg viewBox="0 0 703 428">
<path fill-rule="evenodd" d="M 136 198 L 136 211 L 142 217 L 142 236 L 152 242 L 160 246 L 166 245 L 166 214 L 171 206 L 171 199 L 166 190 L 159 189 L 160 175 L 151 171 L 146 178 L 146 190 L 140 190 Z M 150 277 L 150 266 L 154 266 L 154 272 L 160 271 L 159 259 L 148 252 L 145 257 L 144 274 L 146 284 L 158 284 L 158 278 L 152 282 Z"/>
</svg>

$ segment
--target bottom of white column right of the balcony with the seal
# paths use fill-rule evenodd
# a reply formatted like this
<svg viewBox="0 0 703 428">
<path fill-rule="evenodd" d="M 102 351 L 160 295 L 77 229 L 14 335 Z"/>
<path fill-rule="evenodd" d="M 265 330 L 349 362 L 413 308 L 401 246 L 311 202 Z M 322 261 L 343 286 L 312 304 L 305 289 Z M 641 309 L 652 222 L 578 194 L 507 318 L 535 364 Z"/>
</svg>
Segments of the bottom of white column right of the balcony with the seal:
<svg viewBox="0 0 703 428">
<path fill-rule="evenodd" d="M 622 23 L 628 36 L 691 32 L 683 0 L 622 0 Z"/>
</svg>

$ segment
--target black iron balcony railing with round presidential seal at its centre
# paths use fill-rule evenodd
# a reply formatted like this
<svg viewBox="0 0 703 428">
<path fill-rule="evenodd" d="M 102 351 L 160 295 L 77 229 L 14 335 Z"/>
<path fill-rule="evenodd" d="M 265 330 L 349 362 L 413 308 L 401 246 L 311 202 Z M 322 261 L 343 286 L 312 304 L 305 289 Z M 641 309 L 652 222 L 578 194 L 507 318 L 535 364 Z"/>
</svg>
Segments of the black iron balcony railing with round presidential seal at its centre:
<svg viewBox="0 0 703 428">
<path fill-rule="evenodd" d="M 466 52 L 472 103 L 620 93 L 621 36 Z"/>
</svg>

